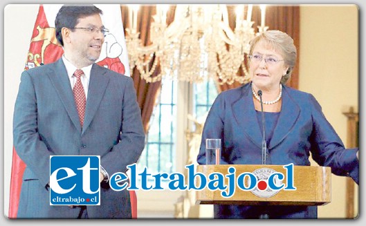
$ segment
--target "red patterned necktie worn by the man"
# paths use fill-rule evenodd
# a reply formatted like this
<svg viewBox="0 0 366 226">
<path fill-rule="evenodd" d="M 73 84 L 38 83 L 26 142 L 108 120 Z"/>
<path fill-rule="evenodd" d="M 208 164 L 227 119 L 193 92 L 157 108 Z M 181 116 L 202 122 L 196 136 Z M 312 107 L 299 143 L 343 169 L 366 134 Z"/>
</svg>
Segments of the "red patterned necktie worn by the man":
<svg viewBox="0 0 366 226">
<path fill-rule="evenodd" d="M 82 70 L 80 69 L 75 70 L 74 76 L 76 77 L 76 83 L 73 88 L 77 114 L 79 115 L 81 126 L 84 124 L 84 115 L 86 106 L 84 87 L 82 86 L 82 79 L 80 79 L 82 75 L 84 75 L 84 72 Z"/>
</svg>

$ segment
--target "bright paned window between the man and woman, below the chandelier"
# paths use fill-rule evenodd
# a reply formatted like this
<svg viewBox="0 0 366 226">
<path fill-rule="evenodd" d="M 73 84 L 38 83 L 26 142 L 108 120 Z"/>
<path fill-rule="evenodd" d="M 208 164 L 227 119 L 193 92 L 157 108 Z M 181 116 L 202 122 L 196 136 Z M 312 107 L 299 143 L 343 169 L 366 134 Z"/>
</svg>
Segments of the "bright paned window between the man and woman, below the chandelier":
<svg viewBox="0 0 366 226">
<path fill-rule="evenodd" d="M 185 95 L 187 98 L 179 98 L 178 94 Z M 190 113 L 196 119 L 205 117 L 216 97 L 217 88 L 212 81 L 188 84 L 187 82 L 163 79 L 161 95 L 152 114 L 151 126 L 147 134 L 147 144 L 138 161 L 138 169 L 147 167 L 148 172 L 154 174 L 159 172 L 172 173 L 177 171 L 178 162 L 184 166 L 185 160 L 176 158 L 176 151 L 178 150 L 176 147 L 177 145 L 182 147 L 183 139 L 185 139 L 185 137 L 181 138 L 182 135 L 177 136 L 177 129 L 185 132 L 187 127 L 178 126 L 177 128 L 177 122 L 187 120 L 187 113 Z M 187 109 L 187 111 L 177 111 L 177 100 L 184 102 L 180 103 L 185 105 L 181 109 Z M 187 148 L 183 148 L 184 150 L 187 150 Z M 183 169 L 178 170 L 182 171 Z"/>
</svg>

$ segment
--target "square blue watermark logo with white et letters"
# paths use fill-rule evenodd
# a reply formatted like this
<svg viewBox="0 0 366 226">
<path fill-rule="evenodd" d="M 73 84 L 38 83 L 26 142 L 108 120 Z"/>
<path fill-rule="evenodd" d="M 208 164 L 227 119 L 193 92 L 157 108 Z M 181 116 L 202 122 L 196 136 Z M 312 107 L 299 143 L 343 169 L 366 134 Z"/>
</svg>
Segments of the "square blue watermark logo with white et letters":
<svg viewBox="0 0 366 226">
<path fill-rule="evenodd" d="M 50 205 L 100 205 L 100 156 L 51 156 Z"/>
</svg>

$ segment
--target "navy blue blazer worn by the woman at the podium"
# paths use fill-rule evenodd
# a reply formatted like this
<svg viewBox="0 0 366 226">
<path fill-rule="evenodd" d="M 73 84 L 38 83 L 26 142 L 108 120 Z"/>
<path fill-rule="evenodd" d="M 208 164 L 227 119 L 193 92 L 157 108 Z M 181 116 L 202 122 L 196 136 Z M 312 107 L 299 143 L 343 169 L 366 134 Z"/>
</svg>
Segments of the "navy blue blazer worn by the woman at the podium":
<svg viewBox="0 0 366 226">
<path fill-rule="evenodd" d="M 262 133 L 259 126 L 250 83 L 220 93 L 205 121 L 197 162 L 205 164 L 205 139 L 221 138 L 222 164 L 262 164 Z M 309 93 L 284 86 L 282 109 L 267 148 L 267 164 L 309 166 L 311 153 L 313 160 L 321 166 L 331 167 L 332 173 L 338 176 L 351 176 L 358 183 L 358 149 L 345 149 L 324 117 L 320 104 Z M 214 209 L 217 218 L 255 218 L 257 213 L 251 212 L 250 208 L 263 210 L 260 207 L 233 208 L 229 205 Z M 316 207 L 315 210 L 314 207 L 299 208 L 291 211 L 295 208 L 283 207 L 282 213 L 272 212 L 272 215 L 276 218 L 316 217 Z M 296 214 L 299 211 L 302 214 Z"/>
</svg>

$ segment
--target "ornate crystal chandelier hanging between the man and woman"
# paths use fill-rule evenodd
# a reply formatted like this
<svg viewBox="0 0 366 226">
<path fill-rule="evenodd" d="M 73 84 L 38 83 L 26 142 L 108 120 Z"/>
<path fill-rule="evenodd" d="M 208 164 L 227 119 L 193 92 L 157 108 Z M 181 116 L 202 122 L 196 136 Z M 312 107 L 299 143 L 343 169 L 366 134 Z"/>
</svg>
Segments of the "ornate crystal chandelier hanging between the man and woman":
<svg viewBox="0 0 366 226">
<path fill-rule="evenodd" d="M 253 5 L 236 8 L 235 30 L 228 23 L 226 5 L 176 5 L 174 21 L 167 26 L 168 5 L 156 5 L 151 24 L 149 46 L 144 46 L 137 32 L 138 5 L 129 6 L 126 45 L 130 70 L 137 68 L 147 82 L 172 77 L 187 82 L 213 79 L 218 84 L 249 81 L 245 65 L 249 41 L 268 29 L 265 5 L 261 5 L 261 25 L 253 28 Z M 244 15 L 246 12 L 246 15 Z M 245 17 L 246 16 L 246 17 Z M 248 58 L 247 58 L 248 59 Z M 160 73 L 156 67 L 160 66 Z M 238 75 L 239 68 L 243 75 Z"/>
</svg>

